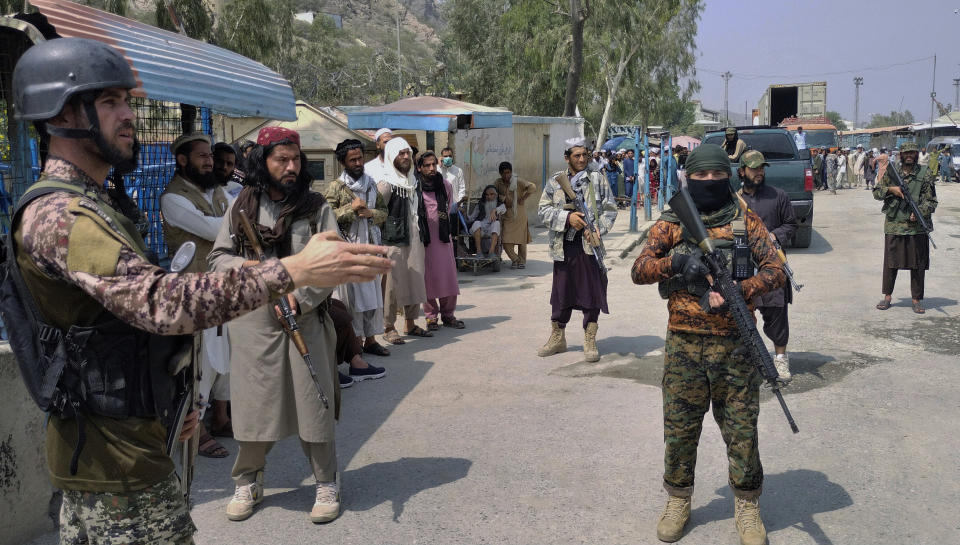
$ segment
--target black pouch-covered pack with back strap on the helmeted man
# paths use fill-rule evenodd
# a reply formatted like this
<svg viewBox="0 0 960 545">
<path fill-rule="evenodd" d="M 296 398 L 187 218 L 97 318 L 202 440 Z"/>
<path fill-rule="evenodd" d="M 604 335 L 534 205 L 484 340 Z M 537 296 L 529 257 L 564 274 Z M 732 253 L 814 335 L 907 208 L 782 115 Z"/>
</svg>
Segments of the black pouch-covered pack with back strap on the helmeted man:
<svg viewBox="0 0 960 545">
<path fill-rule="evenodd" d="M 51 191 L 38 191 L 34 197 Z M 29 196 L 29 195 L 28 195 Z M 178 395 L 171 362 L 191 354 L 192 337 L 153 335 L 105 312 L 101 323 L 67 331 L 50 325 L 23 281 L 13 233 L 0 244 L 0 314 L 27 391 L 44 412 L 77 422 L 70 474 L 86 442 L 84 416 L 161 418 L 168 428 Z"/>
</svg>

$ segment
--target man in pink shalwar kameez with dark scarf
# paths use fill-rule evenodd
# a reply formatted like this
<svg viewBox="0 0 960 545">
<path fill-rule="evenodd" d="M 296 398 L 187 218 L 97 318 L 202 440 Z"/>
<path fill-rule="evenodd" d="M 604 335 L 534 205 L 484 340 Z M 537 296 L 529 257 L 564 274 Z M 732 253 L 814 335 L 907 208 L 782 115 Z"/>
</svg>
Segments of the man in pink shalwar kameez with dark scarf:
<svg viewBox="0 0 960 545">
<path fill-rule="evenodd" d="M 417 157 L 417 177 L 430 234 L 423 242 L 427 288 L 423 313 L 427 316 L 427 328 L 439 329 L 440 319 L 445 326 L 463 329 L 463 321 L 454 315 L 460 286 L 453 258 L 454 239 L 449 212 L 453 187 L 437 172 L 437 156 L 432 151 L 425 151 Z"/>
</svg>

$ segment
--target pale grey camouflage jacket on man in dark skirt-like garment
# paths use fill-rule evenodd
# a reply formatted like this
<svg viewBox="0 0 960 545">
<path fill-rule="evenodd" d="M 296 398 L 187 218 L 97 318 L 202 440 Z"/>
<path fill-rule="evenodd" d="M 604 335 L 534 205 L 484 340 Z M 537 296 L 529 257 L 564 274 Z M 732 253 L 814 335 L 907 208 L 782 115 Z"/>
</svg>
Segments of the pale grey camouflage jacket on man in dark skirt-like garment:
<svg viewBox="0 0 960 545">
<path fill-rule="evenodd" d="M 567 225 L 567 216 L 573 210 L 569 209 L 567 196 L 560 187 L 557 177 L 562 172 L 557 172 L 548 181 L 543 188 L 543 194 L 540 196 L 539 209 L 537 212 L 540 222 L 550 230 L 550 257 L 554 261 L 563 261 L 563 237 L 569 228 Z M 613 222 L 617 219 L 617 205 L 614 204 L 610 195 L 610 184 L 601 182 L 601 176 L 597 172 L 587 174 L 590 179 L 589 184 L 584 184 L 583 201 L 587 207 L 587 213 L 591 216 L 594 225 L 603 236 L 613 228 Z M 567 172 L 567 177 L 573 177 Z M 587 255 L 592 255 L 593 249 L 590 248 L 586 240 L 583 241 L 583 251 Z"/>
</svg>

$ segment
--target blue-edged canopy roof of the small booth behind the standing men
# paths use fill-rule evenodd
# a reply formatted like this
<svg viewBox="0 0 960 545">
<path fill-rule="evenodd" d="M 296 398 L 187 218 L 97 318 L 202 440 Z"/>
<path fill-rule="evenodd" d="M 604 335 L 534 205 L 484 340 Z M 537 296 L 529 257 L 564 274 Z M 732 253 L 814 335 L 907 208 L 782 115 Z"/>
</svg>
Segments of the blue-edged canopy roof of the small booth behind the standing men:
<svg viewBox="0 0 960 545">
<path fill-rule="evenodd" d="M 351 129 L 456 130 L 457 116 L 470 116 L 471 129 L 512 127 L 513 113 L 503 108 L 444 97 L 411 97 L 362 110 L 347 111 Z"/>
</svg>

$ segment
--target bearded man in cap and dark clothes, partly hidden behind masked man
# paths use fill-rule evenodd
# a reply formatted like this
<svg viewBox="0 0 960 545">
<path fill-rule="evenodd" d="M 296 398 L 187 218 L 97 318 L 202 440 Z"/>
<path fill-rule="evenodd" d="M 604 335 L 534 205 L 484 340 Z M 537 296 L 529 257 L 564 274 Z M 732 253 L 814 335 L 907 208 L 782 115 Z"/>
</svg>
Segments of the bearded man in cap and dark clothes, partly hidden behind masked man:
<svg viewBox="0 0 960 545">
<path fill-rule="evenodd" d="M 770 231 L 770 242 L 786 246 L 797 231 L 797 216 L 790 205 L 790 197 L 784 190 L 763 183 L 764 167 L 768 166 L 770 164 L 757 150 L 743 154 L 737 170 L 743 180 L 741 196 Z M 793 291 L 790 283 L 785 282 L 783 289 L 762 295 L 758 305 L 760 315 L 763 316 L 763 333 L 773 342 L 776 352 L 773 363 L 782 382 L 790 380 L 790 358 L 787 356 L 787 341 L 790 340 L 787 305 L 790 303 L 793 303 Z"/>
</svg>

